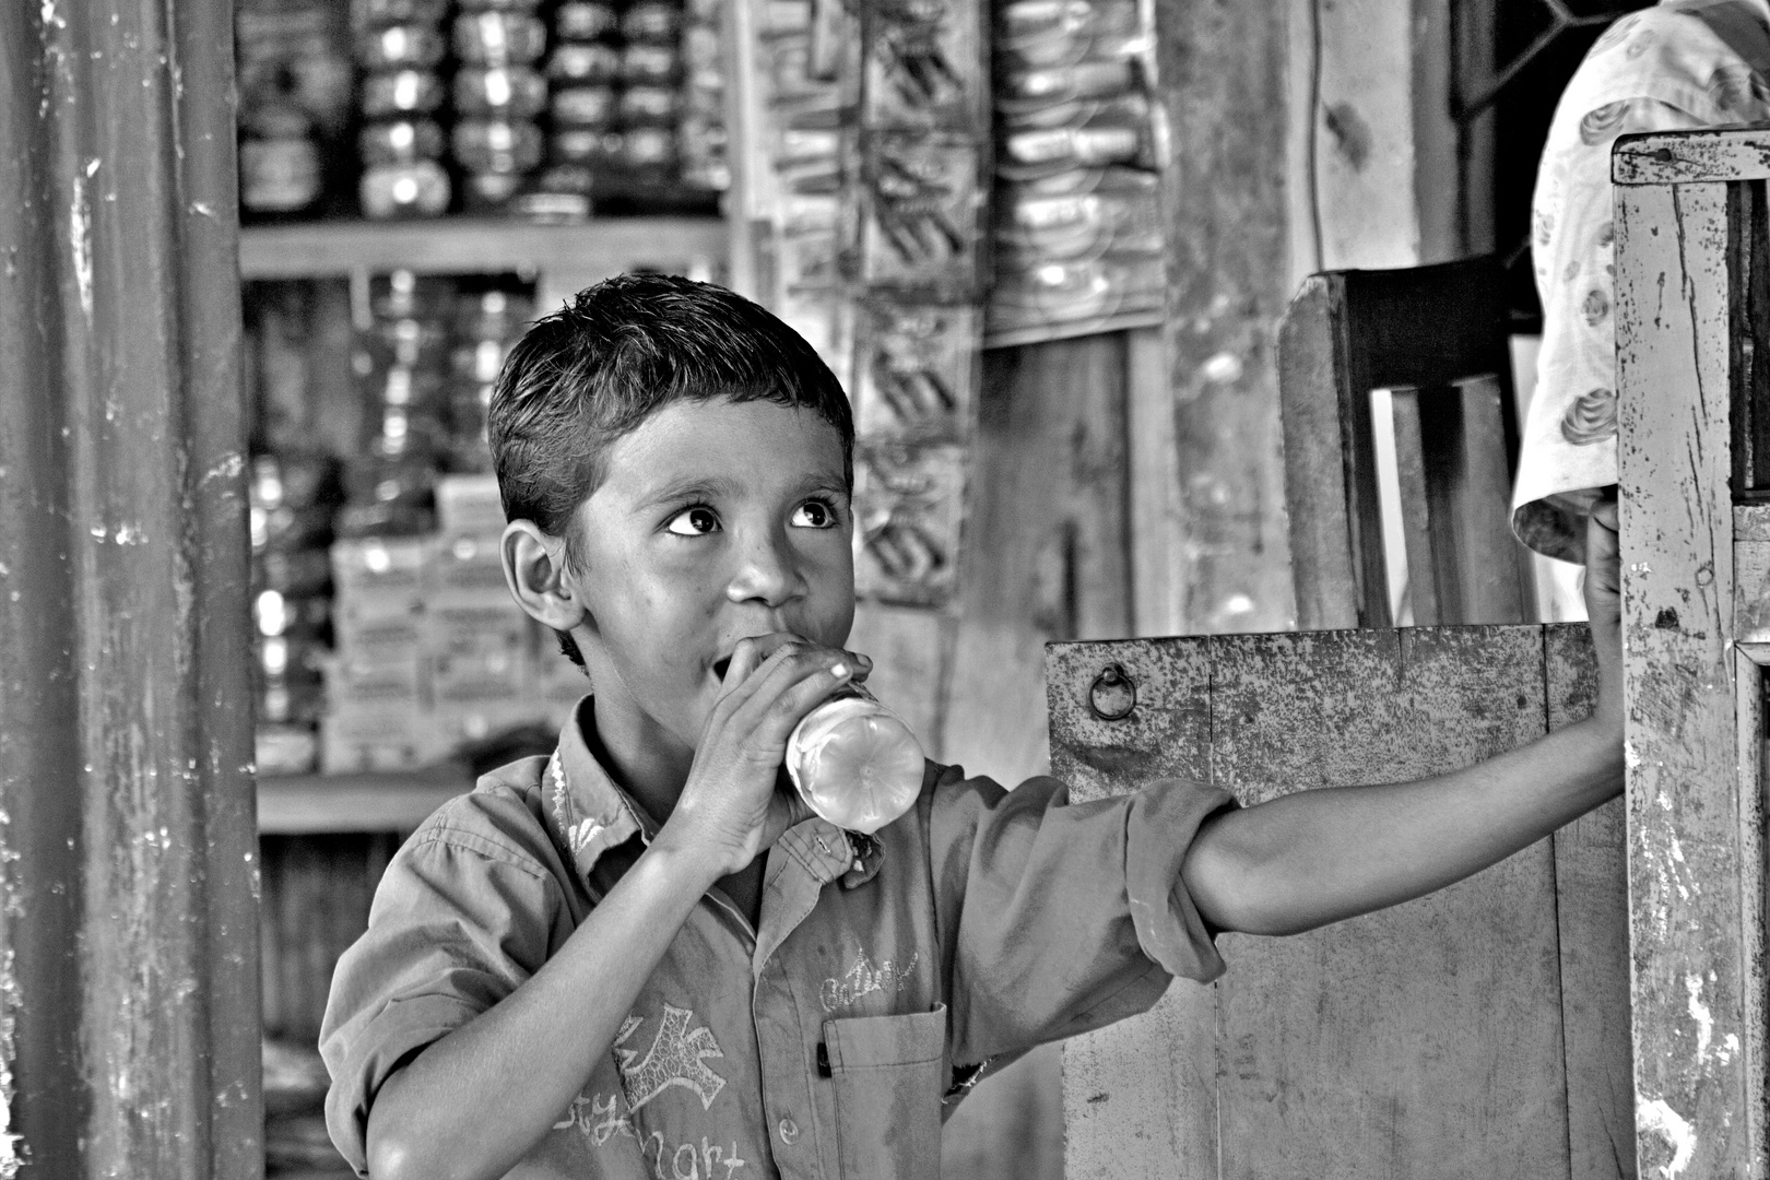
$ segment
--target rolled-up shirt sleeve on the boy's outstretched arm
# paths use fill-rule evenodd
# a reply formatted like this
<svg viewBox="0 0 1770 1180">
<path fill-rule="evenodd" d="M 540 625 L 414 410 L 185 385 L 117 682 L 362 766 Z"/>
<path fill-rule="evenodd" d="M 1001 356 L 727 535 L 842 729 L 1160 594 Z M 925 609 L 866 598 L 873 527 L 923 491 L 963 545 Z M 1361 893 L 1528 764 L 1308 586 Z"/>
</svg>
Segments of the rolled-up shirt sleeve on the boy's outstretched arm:
<svg viewBox="0 0 1770 1180">
<path fill-rule="evenodd" d="M 947 770 L 929 851 L 952 1060 L 981 1063 L 1147 1010 L 1175 975 L 1223 973 L 1181 862 L 1235 800 L 1186 780 L 1071 803 Z"/>
</svg>

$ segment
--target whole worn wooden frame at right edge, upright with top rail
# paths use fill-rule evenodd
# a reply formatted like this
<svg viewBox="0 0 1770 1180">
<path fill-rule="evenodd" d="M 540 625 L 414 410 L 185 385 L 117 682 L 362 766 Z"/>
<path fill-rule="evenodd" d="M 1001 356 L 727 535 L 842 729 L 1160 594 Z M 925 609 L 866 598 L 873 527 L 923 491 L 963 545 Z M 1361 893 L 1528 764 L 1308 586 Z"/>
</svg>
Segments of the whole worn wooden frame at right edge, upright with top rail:
<svg viewBox="0 0 1770 1180">
<path fill-rule="evenodd" d="M 1766 517 L 1752 506 L 1770 258 L 1763 129 L 1618 142 L 1635 1145 L 1643 1175 L 1763 1178 Z M 1745 428 L 1745 437 L 1742 435 Z M 1742 502 L 1745 501 L 1745 502 Z"/>
</svg>

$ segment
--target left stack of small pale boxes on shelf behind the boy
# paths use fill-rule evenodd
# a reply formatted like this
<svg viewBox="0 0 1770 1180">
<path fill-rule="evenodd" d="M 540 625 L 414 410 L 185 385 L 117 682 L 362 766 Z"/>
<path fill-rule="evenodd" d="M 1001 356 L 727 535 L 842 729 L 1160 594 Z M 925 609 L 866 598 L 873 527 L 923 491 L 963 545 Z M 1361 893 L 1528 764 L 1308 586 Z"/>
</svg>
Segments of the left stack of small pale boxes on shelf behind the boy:
<svg viewBox="0 0 1770 1180">
<path fill-rule="evenodd" d="M 320 722 L 329 775 L 405 770 L 439 755 L 423 628 L 434 550 L 421 536 L 333 543 L 335 655 Z"/>
</svg>

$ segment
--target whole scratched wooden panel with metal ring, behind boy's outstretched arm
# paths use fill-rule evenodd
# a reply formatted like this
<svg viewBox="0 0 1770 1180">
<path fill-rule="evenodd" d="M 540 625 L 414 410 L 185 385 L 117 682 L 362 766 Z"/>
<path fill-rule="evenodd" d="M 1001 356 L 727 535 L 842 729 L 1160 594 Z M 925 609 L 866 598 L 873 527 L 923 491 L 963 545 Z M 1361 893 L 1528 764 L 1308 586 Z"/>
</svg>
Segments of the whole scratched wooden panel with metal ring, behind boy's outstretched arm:
<svg viewBox="0 0 1770 1180">
<path fill-rule="evenodd" d="M 1589 708 L 1582 644 L 1538 626 L 1055 644 L 1053 770 L 1078 798 L 1184 775 L 1244 803 L 1437 773 Z M 1119 722 L 1089 704 L 1106 663 L 1136 685 Z M 1568 1015 L 1561 985 L 1570 954 L 1625 975 L 1616 920 L 1568 929 L 1621 909 L 1614 839 L 1586 840 L 1611 877 L 1570 847 L 1584 876 L 1559 881 L 1543 840 L 1381 915 L 1223 936 L 1214 987 L 1177 982 L 1152 1012 L 1066 1044 L 1069 1175 L 1630 1175 L 1586 1116 L 1597 1090 L 1627 1095 L 1627 996 L 1600 989 Z"/>
</svg>

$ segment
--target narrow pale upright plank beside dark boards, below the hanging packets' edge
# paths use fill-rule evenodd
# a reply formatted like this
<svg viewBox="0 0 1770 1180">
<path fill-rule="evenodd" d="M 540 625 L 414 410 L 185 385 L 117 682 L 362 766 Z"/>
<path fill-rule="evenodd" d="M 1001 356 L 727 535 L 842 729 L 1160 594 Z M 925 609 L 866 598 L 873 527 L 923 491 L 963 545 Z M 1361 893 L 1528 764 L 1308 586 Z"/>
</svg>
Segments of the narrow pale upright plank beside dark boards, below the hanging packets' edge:
<svg viewBox="0 0 1770 1180">
<path fill-rule="evenodd" d="M 1161 333 L 1126 333 L 1135 635 L 1179 635 L 1186 628 L 1186 531 L 1168 377 Z"/>
</svg>

